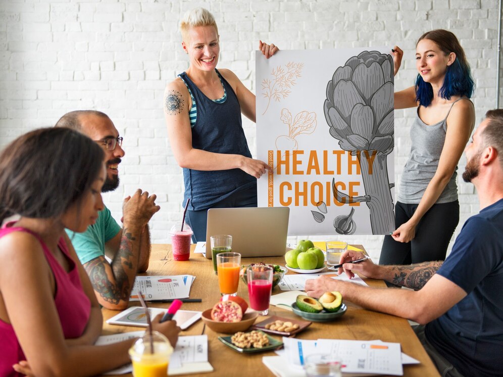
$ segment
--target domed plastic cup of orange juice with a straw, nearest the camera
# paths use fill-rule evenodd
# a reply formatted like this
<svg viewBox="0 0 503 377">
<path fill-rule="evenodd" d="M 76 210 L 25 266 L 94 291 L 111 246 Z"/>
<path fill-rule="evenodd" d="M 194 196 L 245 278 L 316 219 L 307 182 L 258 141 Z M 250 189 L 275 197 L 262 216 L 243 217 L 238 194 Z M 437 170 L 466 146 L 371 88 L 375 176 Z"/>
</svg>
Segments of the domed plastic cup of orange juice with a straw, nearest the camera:
<svg viewBox="0 0 503 377">
<path fill-rule="evenodd" d="M 148 331 L 129 349 L 134 377 L 167 377 L 173 347 L 164 335 Z"/>
</svg>

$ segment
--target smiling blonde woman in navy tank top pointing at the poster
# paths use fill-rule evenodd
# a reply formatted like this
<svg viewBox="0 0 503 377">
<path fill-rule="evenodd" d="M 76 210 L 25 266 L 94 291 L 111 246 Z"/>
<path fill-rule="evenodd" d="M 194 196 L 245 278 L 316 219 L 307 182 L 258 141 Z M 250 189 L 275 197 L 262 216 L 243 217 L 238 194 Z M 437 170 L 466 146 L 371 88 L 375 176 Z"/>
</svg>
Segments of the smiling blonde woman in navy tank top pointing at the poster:
<svg viewBox="0 0 503 377">
<path fill-rule="evenodd" d="M 184 204 L 194 241 L 206 241 L 209 208 L 257 207 L 257 179 L 269 166 L 252 158 L 241 114 L 255 122 L 255 95 L 228 69 L 217 69 L 218 27 L 204 8 L 185 14 L 182 48 L 188 69 L 165 91 L 164 113 L 175 159 L 183 168 Z M 266 58 L 278 49 L 260 43 Z"/>
</svg>

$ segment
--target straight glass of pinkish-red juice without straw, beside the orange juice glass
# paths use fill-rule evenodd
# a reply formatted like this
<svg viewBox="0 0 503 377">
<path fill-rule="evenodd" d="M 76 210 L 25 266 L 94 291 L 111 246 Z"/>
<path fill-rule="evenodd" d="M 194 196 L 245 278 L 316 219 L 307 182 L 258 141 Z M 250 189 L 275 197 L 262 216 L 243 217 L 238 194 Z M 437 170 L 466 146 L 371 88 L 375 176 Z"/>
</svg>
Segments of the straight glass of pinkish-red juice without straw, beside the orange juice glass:
<svg viewBox="0 0 503 377">
<path fill-rule="evenodd" d="M 272 277 L 274 269 L 271 266 L 253 266 L 246 270 L 248 277 L 248 296 L 250 307 L 260 315 L 269 312 L 271 300 Z"/>
</svg>

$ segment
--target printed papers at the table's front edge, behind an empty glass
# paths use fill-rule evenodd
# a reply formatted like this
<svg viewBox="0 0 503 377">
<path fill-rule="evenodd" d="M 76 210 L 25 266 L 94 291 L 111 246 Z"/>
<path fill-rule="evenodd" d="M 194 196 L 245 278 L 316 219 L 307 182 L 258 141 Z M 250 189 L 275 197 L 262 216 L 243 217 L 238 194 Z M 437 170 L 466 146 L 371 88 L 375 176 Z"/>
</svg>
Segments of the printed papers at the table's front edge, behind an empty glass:
<svg viewBox="0 0 503 377">
<path fill-rule="evenodd" d="M 299 340 L 283 338 L 284 350 L 279 356 L 265 356 L 262 361 L 277 376 L 305 376 L 305 359 L 315 353 L 337 355 L 343 373 L 403 375 L 402 364 L 419 361 L 402 353 L 399 343 L 376 341 L 318 339 Z M 361 374 L 360 374 L 361 375 Z"/>
</svg>

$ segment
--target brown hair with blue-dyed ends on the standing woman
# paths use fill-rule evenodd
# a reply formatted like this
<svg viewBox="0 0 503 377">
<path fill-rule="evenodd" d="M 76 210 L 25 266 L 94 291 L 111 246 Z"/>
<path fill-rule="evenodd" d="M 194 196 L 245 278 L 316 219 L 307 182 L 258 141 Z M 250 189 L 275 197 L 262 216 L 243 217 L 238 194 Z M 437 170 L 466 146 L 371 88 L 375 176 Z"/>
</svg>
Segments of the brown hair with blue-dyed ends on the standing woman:
<svg viewBox="0 0 503 377">
<path fill-rule="evenodd" d="M 423 39 L 430 39 L 435 42 L 445 55 L 450 53 L 456 54 L 456 60 L 447 67 L 447 71 L 445 72 L 442 87 L 438 91 L 440 97 L 446 100 L 450 100 L 452 96 L 471 98 L 475 84 L 470 71 L 470 64 L 468 64 L 466 59 L 465 51 L 461 47 L 456 35 L 447 30 L 436 29 L 421 35 L 418 39 L 418 43 Z M 433 99 L 433 88 L 431 84 L 425 82 L 421 75 L 418 74 L 415 88 L 416 101 L 419 101 L 421 106 L 428 107 Z"/>
</svg>

